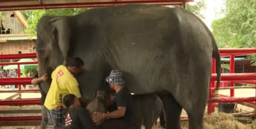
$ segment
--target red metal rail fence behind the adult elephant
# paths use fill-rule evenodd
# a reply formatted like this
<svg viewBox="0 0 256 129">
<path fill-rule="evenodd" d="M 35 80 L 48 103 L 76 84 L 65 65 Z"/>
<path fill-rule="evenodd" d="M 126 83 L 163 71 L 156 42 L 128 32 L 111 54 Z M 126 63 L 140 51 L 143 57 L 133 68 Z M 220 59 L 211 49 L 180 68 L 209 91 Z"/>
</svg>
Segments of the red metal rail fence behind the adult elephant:
<svg viewBox="0 0 256 129">
<path fill-rule="evenodd" d="M 213 94 L 215 94 L 214 88 L 216 87 L 216 74 L 215 74 L 215 59 L 212 59 L 212 77 L 211 83 L 209 88 L 209 100 L 208 100 L 208 114 L 214 111 L 214 108 L 217 107 L 216 102 L 248 102 L 250 104 L 255 105 L 256 97 L 249 97 L 249 98 L 234 98 L 234 83 L 250 83 L 255 84 L 256 80 L 256 73 L 234 73 L 235 70 L 235 60 L 234 57 L 238 55 L 248 55 L 248 54 L 255 54 L 256 48 L 243 48 L 243 49 L 220 49 L 220 53 L 222 57 L 230 56 L 230 73 L 229 74 L 222 74 L 221 81 L 230 81 L 230 96 L 219 95 L 222 98 L 213 98 Z M 4 59 L 21 59 L 21 58 L 36 58 L 35 53 L 29 54 L 13 54 L 13 55 L 0 55 L 0 60 Z M 36 64 L 37 62 L 12 62 L 12 63 L 0 63 L 0 65 L 18 65 L 18 78 L 1 78 L 0 85 L 19 85 L 19 90 L 13 92 L 38 92 L 36 90 L 22 90 L 20 85 L 24 84 L 31 84 L 32 78 L 19 78 L 20 77 L 20 67 L 19 65 L 23 64 Z M 223 88 L 223 87 L 220 87 Z M 255 88 L 255 87 L 251 87 Z M 9 92 L 9 91 L 0 91 L 1 93 Z M 216 95 L 216 94 L 215 94 Z M 232 97 L 232 98 L 230 98 Z M 36 105 L 39 104 L 39 99 L 20 99 L 20 100 L 2 100 L 0 101 L 1 105 Z M 182 117 L 184 118 L 184 117 Z M 0 121 L 29 121 L 29 120 L 41 120 L 41 116 L 19 116 L 19 117 L 0 117 Z"/>
</svg>

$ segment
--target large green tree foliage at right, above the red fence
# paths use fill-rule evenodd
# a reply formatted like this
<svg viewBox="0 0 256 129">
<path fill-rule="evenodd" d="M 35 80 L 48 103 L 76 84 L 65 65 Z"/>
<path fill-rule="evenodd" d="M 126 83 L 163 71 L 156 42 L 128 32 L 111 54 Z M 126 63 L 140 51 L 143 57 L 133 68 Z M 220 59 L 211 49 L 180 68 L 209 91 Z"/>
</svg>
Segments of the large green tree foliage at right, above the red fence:
<svg viewBox="0 0 256 129">
<path fill-rule="evenodd" d="M 225 0 L 221 11 L 225 16 L 212 22 L 213 34 L 219 47 L 255 47 L 255 0 Z"/>
</svg>

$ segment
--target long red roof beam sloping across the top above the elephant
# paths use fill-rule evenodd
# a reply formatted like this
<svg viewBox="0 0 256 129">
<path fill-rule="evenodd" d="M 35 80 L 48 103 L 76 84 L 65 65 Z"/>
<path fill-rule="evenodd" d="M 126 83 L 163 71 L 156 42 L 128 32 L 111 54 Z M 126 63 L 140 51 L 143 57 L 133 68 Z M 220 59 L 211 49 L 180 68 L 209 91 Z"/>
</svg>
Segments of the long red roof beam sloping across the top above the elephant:
<svg viewBox="0 0 256 129">
<path fill-rule="evenodd" d="M 0 6 L 3 8 L 31 8 L 31 7 L 55 7 L 55 6 L 83 6 L 83 5 L 104 5 L 104 4 L 150 4 L 150 3 L 181 3 L 193 2 L 194 0 L 144 0 L 144 1 L 110 1 L 110 2 L 83 2 L 83 3 L 61 3 L 61 4 L 30 4 L 30 5 L 11 5 Z"/>
</svg>

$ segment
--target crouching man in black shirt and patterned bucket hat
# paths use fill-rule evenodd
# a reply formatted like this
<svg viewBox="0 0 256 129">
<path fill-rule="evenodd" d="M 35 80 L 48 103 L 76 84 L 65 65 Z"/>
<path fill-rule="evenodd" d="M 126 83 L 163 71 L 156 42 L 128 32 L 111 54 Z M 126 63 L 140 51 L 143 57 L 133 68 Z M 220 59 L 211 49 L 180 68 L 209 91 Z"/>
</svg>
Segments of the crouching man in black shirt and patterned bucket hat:
<svg viewBox="0 0 256 129">
<path fill-rule="evenodd" d="M 122 72 L 112 70 L 106 81 L 110 88 L 116 91 L 113 104 L 110 106 L 109 113 L 94 112 L 93 122 L 98 123 L 102 119 L 104 121 L 103 129 L 132 129 L 133 128 L 133 112 L 132 112 L 132 95 L 127 87 L 124 87 Z"/>
</svg>

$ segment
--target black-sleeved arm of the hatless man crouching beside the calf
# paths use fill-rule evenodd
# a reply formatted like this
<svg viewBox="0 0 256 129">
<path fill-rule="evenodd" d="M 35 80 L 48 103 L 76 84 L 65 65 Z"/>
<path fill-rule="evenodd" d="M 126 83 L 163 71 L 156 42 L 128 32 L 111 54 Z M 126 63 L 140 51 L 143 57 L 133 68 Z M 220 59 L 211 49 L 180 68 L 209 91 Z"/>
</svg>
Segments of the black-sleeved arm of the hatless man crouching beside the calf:
<svg viewBox="0 0 256 129">
<path fill-rule="evenodd" d="M 90 114 L 88 113 L 88 111 L 86 111 L 86 109 L 79 108 L 77 110 L 77 115 L 78 115 L 84 129 L 95 129 L 96 128 L 96 126 L 92 122 L 92 119 L 90 118 Z"/>
</svg>

